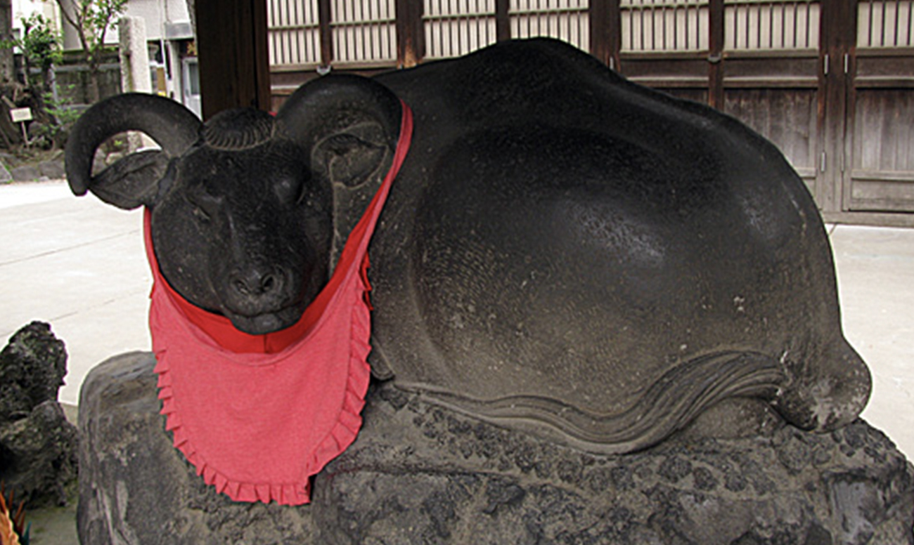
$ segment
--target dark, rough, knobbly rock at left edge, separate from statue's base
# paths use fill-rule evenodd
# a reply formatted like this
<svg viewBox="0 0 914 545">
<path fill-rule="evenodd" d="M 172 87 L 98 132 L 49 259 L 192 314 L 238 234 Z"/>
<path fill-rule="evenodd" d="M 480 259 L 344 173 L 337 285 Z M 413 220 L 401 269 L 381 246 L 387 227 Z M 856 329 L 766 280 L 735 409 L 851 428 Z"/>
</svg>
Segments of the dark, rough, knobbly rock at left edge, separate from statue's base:
<svg viewBox="0 0 914 545">
<path fill-rule="evenodd" d="M 57 402 L 67 352 L 46 323 L 0 352 L 0 481 L 31 507 L 66 503 L 77 474 L 77 431 Z"/>
</svg>

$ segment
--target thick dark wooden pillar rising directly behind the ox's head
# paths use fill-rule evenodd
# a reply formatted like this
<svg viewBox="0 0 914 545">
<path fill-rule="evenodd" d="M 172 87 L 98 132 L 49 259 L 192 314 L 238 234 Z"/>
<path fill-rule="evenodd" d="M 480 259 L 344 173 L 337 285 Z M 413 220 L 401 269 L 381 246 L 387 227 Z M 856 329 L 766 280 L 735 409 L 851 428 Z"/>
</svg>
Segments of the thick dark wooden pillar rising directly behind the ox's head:
<svg viewBox="0 0 914 545">
<path fill-rule="evenodd" d="M 265 0 L 197 0 L 203 119 L 221 110 L 269 110 L 270 58 Z"/>
</svg>

